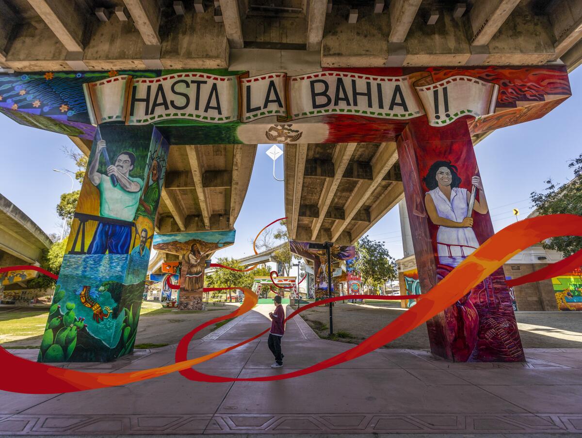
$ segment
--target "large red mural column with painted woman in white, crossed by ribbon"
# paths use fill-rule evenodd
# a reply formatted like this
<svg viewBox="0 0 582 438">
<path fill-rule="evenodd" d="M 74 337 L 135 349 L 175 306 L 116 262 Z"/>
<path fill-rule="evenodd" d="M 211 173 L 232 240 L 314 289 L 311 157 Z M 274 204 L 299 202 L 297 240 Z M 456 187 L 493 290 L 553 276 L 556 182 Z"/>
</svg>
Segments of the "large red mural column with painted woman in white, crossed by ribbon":
<svg viewBox="0 0 582 438">
<path fill-rule="evenodd" d="M 398 156 L 420 288 L 428 291 L 494 234 L 467 119 L 439 127 L 411 120 Z M 525 360 L 502 268 L 427 326 L 432 352 L 444 358 Z"/>
</svg>

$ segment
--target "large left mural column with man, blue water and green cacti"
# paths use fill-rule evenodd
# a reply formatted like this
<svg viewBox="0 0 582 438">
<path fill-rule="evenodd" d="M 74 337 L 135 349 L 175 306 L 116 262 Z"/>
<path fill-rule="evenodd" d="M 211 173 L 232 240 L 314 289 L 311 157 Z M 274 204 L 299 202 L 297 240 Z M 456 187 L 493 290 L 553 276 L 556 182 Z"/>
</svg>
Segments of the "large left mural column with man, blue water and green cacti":
<svg viewBox="0 0 582 438">
<path fill-rule="evenodd" d="M 98 128 L 39 362 L 133 351 L 168 150 L 151 125 Z"/>
</svg>

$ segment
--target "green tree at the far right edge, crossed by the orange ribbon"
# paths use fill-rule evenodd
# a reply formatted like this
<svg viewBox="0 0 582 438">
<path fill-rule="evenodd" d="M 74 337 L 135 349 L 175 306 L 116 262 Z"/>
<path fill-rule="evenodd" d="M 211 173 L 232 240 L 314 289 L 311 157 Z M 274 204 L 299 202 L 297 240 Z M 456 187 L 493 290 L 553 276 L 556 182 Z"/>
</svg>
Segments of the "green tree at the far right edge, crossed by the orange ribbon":
<svg viewBox="0 0 582 438">
<path fill-rule="evenodd" d="M 544 193 L 531 192 L 531 202 L 538 214 L 569 213 L 582 216 L 582 154 L 570 161 L 568 167 L 574 168 L 572 181 L 560 185 L 548 179 L 544 181 L 548 184 Z M 553 237 L 544 242 L 544 248 L 562 252 L 567 257 L 582 249 L 582 237 Z"/>
</svg>

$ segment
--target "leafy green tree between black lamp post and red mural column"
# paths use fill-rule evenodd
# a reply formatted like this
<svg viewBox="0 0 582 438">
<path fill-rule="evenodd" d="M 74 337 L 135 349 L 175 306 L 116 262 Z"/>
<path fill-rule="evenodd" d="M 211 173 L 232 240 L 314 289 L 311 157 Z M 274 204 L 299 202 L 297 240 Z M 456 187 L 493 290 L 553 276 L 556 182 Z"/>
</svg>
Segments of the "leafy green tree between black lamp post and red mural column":
<svg viewBox="0 0 582 438">
<path fill-rule="evenodd" d="M 363 284 L 374 288 L 398 277 L 396 262 L 384 246 L 384 242 L 374 241 L 368 236 L 356 242 L 354 269 L 360 273 Z"/>
</svg>

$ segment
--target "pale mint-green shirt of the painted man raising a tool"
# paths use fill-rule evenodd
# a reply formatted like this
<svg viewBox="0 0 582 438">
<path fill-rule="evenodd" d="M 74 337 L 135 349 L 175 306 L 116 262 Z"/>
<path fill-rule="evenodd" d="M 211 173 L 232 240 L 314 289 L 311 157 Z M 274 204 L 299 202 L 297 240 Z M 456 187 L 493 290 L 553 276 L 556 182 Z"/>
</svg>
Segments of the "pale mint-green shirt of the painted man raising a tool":
<svg viewBox="0 0 582 438">
<path fill-rule="evenodd" d="M 102 217 L 133 221 L 144 183 L 139 178 L 132 178 L 131 176 L 127 178 L 130 181 L 137 182 L 140 185 L 140 190 L 128 192 L 119 183 L 113 186 L 109 176 L 102 176 L 101 182 L 97 186 L 100 193 L 100 214 Z"/>
</svg>

